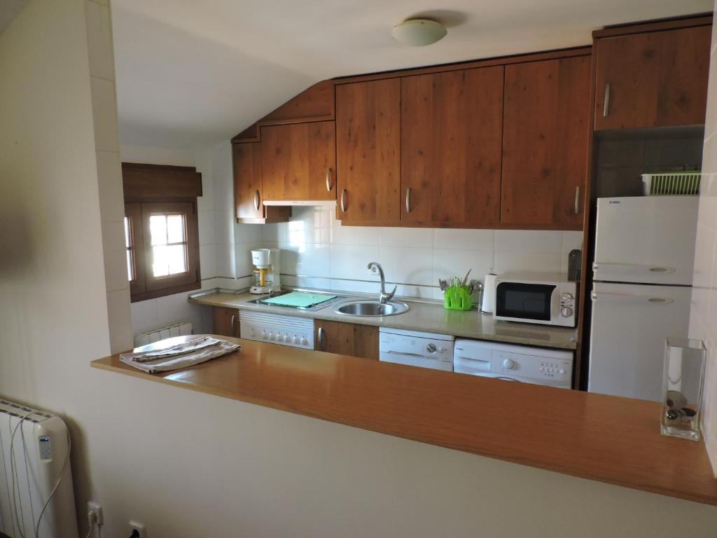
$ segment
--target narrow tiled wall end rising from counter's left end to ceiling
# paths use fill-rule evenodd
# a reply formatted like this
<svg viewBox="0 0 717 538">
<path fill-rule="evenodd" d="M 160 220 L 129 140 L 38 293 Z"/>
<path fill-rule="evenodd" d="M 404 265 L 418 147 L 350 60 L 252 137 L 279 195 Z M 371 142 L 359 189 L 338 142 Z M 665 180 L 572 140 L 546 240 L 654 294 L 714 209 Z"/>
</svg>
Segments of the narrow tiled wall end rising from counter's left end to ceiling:
<svg viewBox="0 0 717 538">
<path fill-rule="evenodd" d="M 92 122 L 95 128 L 110 349 L 113 353 L 117 353 L 131 346 L 132 326 L 130 290 L 124 261 L 125 212 L 120 170 L 112 22 L 108 1 L 85 0 L 85 20 L 90 60 Z"/>
</svg>

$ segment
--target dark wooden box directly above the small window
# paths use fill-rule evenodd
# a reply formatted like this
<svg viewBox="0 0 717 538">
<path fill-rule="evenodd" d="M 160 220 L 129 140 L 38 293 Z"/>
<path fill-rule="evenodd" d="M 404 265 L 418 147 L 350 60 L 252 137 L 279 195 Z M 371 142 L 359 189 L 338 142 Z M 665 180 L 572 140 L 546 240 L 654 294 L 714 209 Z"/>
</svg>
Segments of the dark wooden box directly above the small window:
<svg viewBox="0 0 717 538">
<path fill-rule="evenodd" d="M 201 174 L 194 166 L 122 163 L 125 202 L 166 202 L 201 196 Z"/>
</svg>

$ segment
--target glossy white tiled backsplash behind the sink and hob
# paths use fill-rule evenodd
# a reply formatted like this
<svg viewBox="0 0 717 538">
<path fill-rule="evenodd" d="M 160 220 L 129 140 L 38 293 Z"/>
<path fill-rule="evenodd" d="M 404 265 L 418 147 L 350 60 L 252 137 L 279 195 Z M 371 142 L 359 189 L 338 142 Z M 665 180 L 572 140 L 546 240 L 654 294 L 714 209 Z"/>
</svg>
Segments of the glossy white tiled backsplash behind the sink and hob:
<svg viewBox="0 0 717 538">
<path fill-rule="evenodd" d="M 438 278 L 469 269 L 478 280 L 490 268 L 566 272 L 581 240 L 581 232 L 342 226 L 333 208 L 295 207 L 288 223 L 238 226 L 236 264 L 237 275 L 250 275 L 248 250 L 278 247 L 283 283 L 374 292 L 378 278 L 366 265 L 377 261 L 399 295 L 437 299 Z"/>
</svg>

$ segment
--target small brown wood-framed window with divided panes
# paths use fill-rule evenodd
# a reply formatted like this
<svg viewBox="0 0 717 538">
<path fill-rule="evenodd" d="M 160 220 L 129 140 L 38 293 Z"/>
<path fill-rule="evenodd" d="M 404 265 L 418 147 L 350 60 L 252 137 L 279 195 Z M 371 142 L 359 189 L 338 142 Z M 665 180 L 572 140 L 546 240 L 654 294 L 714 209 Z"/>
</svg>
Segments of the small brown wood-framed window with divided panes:
<svg viewBox="0 0 717 538">
<path fill-rule="evenodd" d="M 132 301 L 199 288 L 198 236 L 192 202 L 125 204 Z"/>
</svg>

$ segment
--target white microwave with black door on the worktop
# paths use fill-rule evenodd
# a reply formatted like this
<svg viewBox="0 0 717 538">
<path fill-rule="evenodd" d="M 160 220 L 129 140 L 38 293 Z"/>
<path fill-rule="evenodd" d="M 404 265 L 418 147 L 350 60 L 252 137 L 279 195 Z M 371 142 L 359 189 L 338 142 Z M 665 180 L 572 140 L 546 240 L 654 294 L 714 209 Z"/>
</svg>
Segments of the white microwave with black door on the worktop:
<svg viewBox="0 0 717 538">
<path fill-rule="evenodd" d="M 577 283 L 559 273 L 507 273 L 495 278 L 493 318 L 574 327 Z"/>
</svg>

